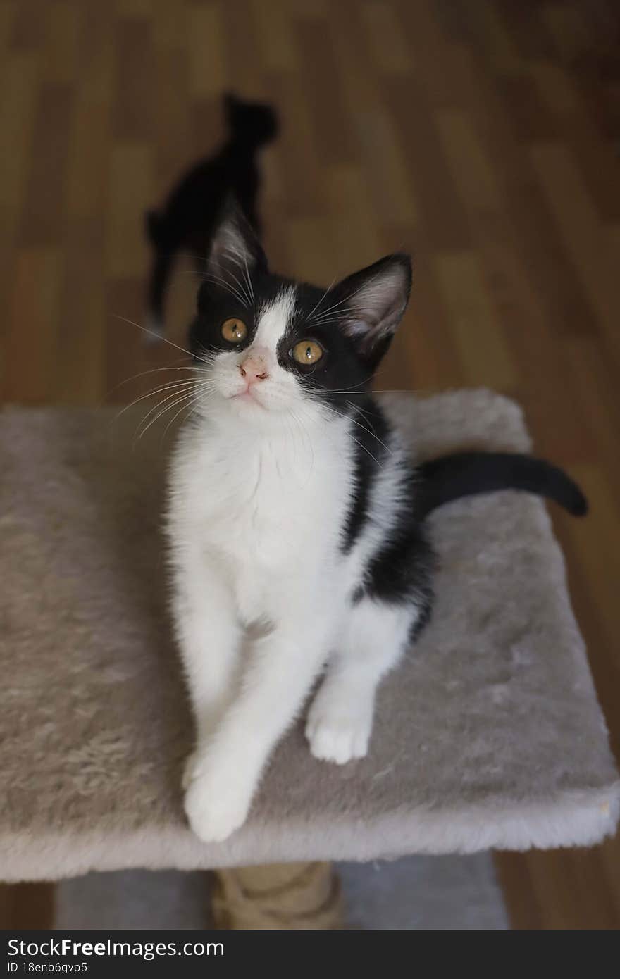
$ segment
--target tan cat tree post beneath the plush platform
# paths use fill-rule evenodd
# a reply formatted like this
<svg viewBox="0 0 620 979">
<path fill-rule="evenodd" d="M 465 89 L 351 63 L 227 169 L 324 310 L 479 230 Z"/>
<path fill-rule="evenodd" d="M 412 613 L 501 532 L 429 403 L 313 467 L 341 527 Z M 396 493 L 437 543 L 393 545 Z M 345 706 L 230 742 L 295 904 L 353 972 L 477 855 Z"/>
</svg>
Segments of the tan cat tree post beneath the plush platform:
<svg viewBox="0 0 620 979">
<path fill-rule="evenodd" d="M 215 871 L 216 928 L 321 931 L 344 926 L 331 863 L 265 863 Z"/>
</svg>

